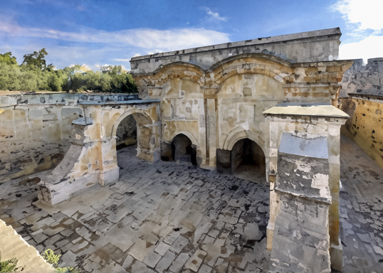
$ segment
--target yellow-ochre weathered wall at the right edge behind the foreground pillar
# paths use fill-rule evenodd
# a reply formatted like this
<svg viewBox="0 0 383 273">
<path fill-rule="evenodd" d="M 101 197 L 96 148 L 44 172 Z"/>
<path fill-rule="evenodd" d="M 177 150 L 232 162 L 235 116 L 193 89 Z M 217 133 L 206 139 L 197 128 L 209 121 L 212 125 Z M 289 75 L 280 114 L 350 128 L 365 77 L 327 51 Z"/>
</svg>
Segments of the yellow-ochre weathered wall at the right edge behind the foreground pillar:
<svg viewBox="0 0 383 273">
<path fill-rule="evenodd" d="M 350 116 L 341 128 L 342 135 L 383 168 L 383 97 L 343 97 L 339 108 Z"/>
</svg>

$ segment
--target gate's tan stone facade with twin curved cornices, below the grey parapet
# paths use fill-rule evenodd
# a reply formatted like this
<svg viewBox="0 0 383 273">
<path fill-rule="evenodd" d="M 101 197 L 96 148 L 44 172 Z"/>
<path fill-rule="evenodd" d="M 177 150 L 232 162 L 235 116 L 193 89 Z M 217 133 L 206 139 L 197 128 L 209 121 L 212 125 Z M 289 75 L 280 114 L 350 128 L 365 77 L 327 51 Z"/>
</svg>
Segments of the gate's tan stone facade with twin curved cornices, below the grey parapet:
<svg viewBox="0 0 383 273">
<path fill-rule="evenodd" d="M 269 125 L 263 111 L 283 101 L 336 104 L 338 82 L 351 64 L 292 64 L 248 54 L 227 58 L 209 70 L 172 63 L 154 75 L 135 78 L 140 96 L 161 100 L 165 144 L 185 134 L 196 145 L 198 165 L 214 168 L 217 149 L 231 150 L 236 141 L 247 138 L 261 146 L 268 169 Z"/>
</svg>

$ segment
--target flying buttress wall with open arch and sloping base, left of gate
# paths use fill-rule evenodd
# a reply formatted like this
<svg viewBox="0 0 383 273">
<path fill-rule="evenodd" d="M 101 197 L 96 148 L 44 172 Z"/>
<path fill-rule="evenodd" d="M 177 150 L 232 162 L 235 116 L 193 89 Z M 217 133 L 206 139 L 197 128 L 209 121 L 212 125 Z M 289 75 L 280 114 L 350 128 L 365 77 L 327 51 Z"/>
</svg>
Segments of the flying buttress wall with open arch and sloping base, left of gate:
<svg viewBox="0 0 383 273">
<path fill-rule="evenodd" d="M 96 183 L 104 186 L 118 181 L 117 128 L 129 116 L 137 123 L 137 157 L 158 160 L 161 135 L 158 101 L 88 104 L 85 117 L 73 121 L 71 146 L 65 158 L 51 176 L 41 181 L 39 199 L 54 205 Z"/>
</svg>

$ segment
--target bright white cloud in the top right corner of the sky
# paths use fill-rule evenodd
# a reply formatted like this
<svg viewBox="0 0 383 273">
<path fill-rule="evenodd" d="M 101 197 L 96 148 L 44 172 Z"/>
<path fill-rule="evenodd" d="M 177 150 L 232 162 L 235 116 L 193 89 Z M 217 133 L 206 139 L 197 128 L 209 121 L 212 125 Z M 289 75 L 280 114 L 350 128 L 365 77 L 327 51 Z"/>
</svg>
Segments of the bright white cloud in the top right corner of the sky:
<svg viewBox="0 0 383 273">
<path fill-rule="evenodd" d="M 382 0 L 341 0 L 331 8 L 339 11 L 349 27 L 357 33 L 367 29 L 380 31 L 383 28 Z M 354 36 L 357 33 L 354 33 Z"/>
</svg>

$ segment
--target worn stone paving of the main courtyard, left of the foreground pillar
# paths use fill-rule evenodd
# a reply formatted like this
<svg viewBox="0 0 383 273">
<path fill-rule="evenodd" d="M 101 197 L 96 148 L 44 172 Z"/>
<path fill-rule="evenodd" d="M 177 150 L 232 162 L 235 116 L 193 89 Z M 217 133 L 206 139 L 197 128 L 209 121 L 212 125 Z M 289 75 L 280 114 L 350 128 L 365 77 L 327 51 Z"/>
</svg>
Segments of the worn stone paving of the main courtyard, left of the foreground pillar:
<svg viewBox="0 0 383 273">
<path fill-rule="evenodd" d="M 53 208 L 33 203 L 47 172 L 4 183 L 0 218 L 82 272 L 267 272 L 268 186 L 135 152 L 117 152 L 119 182 Z"/>
</svg>

